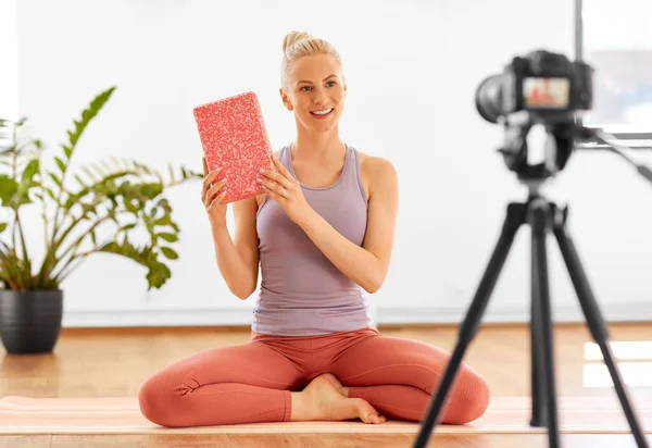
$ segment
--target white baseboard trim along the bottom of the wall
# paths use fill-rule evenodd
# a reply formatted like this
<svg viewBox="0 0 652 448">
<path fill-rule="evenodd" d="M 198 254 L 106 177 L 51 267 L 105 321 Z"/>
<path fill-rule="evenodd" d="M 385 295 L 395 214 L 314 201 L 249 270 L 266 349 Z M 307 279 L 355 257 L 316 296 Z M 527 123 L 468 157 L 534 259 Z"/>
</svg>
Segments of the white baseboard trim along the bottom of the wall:
<svg viewBox="0 0 652 448">
<path fill-rule="evenodd" d="M 377 324 L 457 324 L 468 309 L 450 307 L 383 307 L 374 310 Z M 606 322 L 651 322 L 650 303 L 609 303 L 601 306 Z M 116 309 L 65 310 L 64 327 L 128 326 L 242 326 L 251 324 L 250 309 Z M 553 312 L 554 322 L 585 323 L 579 306 L 561 306 Z M 523 304 L 500 306 L 487 310 L 482 323 L 528 323 L 529 311 Z"/>
</svg>

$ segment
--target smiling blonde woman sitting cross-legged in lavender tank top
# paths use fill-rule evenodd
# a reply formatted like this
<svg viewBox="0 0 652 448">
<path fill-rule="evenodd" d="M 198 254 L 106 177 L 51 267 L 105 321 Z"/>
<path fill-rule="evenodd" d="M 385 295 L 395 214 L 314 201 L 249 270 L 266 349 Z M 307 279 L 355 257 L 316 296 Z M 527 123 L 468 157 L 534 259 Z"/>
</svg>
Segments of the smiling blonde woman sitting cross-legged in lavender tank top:
<svg viewBox="0 0 652 448">
<path fill-rule="evenodd" d="M 244 300 L 261 291 L 248 344 L 180 360 L 140 388 L 142 414 L 163 426 L 388 418 L 421 421 L 449 354 L 380 335 L 365 293 L 390 262 L 398 178 L 390 162 L 344 144 L 338 121 L 347 85 L 338 52 L 292 32 L 284 39 L 280 96 L 297 139 L 261 173 L 261 197 L 234 203 L 235 238 L 206 172 L 202 200 L 220 271 Z M 462 364 L 441 423 L 464 424 L 489 402 L 482 376 Z"/>
</svg>

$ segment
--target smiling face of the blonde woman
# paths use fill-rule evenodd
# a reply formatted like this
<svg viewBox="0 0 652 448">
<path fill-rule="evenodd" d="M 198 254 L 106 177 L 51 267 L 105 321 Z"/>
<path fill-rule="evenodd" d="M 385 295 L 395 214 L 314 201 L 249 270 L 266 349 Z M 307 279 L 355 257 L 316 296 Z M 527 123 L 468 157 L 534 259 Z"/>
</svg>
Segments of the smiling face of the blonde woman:
<svg viewBox="0 0 652 448">
<path fill-rule="evenodd" d="M 315 132 L 328 132 L 337 126 L 344 109 L 347 87 L 341 67 L 327 54 L 300 58 L 292 65 L 287 90 L 280 96 L 297 123 Z"/>
</svg>

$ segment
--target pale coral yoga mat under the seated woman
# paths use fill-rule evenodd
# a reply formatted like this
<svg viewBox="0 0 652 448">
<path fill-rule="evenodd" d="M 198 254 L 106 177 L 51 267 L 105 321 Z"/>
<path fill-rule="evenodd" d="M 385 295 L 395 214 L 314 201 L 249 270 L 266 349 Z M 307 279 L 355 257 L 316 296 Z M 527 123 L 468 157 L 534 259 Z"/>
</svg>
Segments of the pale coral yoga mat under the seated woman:
<svg viewBox="0 0 652 448">
<path fill-rule="evenodd" d="M 652 433 L 652 400 L 632 396 L 645 433 Z M 618 401 L 611 397 L 560 397 L 563 433 L 630 433 Z M 528 426 L 530 397 L 493 397 L 480 419 L 466 425 L 439 425 L 437 433 L 543 433 Z M 166 428 L 146 420 L 136 397 L 111 398 L 0 398 L 0 434 L 291 434 L 367 433 L 417 434 L 418 423 L 361 421 L 255 423 Z"/>
</svg>

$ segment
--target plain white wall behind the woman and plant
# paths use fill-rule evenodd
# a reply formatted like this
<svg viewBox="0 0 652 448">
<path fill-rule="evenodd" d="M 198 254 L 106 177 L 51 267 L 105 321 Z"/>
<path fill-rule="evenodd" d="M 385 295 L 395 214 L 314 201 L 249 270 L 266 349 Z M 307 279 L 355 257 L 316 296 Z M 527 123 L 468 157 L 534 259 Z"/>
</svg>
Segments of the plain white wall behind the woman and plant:
<svg viewBox="0 0 652 448">
<path fill-rule="evenodd" d="M 546 48 L 573 57 L 573 3 L 538 7 L 522 0 L 24 0 L 17 5 L 20 111 L 58 151 L 72 119 L 117 85 L 80 141 L 77 162 L 118 155 L 201 170 L 192 108 L 254 90 L 279 148 L 294 133 L 277 91 L 283 37 L 291 29 L 325 37 L 346 61 L 343 138 L 390 159 L 400 173 L 397 245 L 387 282 L 373 297 L 377 320 L 457 322 L 507 201 L 525 197 L 494 151 L 501 129 L 475 110 L 475 89 L 516 54 Z M 572 203 L 569 225 L 607 318 L 652 318 L 649 185 L 613 154 L 580 152 L 553 187 Z M 222 281 L 199 189 L 195 183 L 171 192 L 183 239 L 168 284 L 148 294 L 145 270 L 96 256 L 64 284 L 64 325 L 250 322 L 255 296 L 242 302 Z M 30 231 L 36 247 L 40 227 Z M 574 320 L 579 308 L 552 242 L 555 318 Z M 529 231 L 523 228 L 485 321 L 526 321 L 528 309 Z"/>
</svg>

